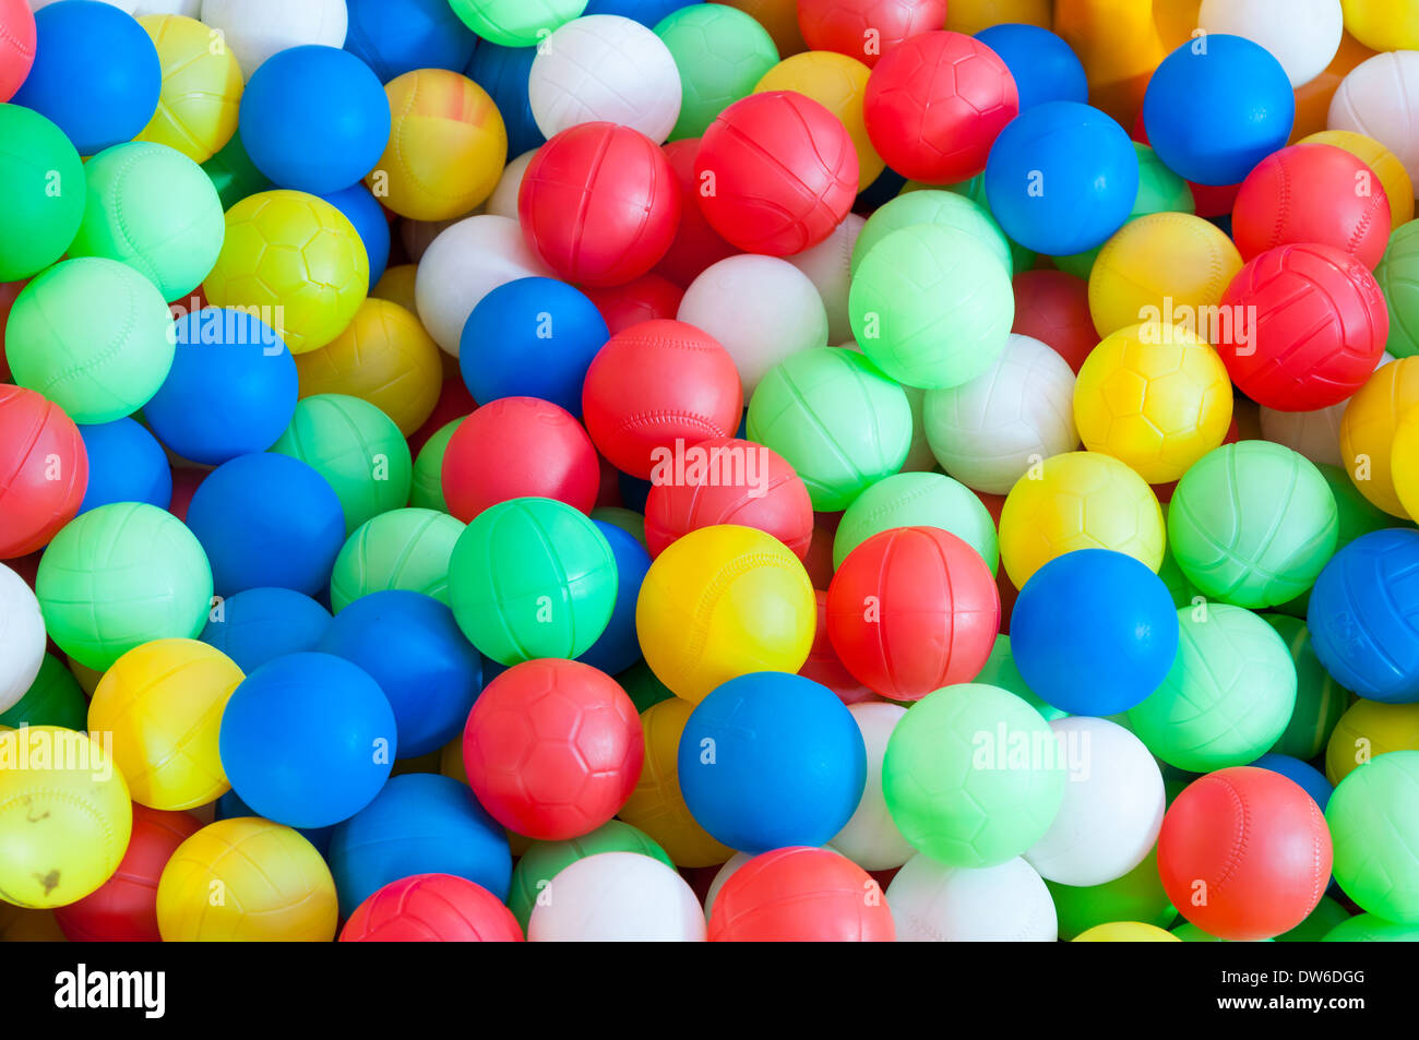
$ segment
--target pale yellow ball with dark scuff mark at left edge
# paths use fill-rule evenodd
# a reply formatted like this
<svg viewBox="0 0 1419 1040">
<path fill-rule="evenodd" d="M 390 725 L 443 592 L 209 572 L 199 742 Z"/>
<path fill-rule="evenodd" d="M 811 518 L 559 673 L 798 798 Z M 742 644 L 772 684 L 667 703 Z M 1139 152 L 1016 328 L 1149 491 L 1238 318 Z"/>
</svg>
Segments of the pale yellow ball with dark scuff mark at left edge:
<svg viewBox="0 0 1419 1040">
<path fill-rule="evenodd" d="M 0 734 L 0 900 L 64 907 L 108 881 L 133 803 L 105 741 L 62 726 Z"/>
</svg>

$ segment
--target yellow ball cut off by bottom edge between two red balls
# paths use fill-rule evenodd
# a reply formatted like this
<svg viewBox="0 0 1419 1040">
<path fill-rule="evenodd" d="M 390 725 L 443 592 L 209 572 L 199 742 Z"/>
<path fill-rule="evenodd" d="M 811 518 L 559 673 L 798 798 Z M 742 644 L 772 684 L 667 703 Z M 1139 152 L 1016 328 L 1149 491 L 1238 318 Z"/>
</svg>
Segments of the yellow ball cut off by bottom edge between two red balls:
<svg viewBox="0 0 1419 1040">
<path fill-rule="evenodd" d="M 199 830 L 158 883 L 165 942 L 329 942 L 338 919 L 335 878 L 315 846 L 254 816 Z"/>
</svg>

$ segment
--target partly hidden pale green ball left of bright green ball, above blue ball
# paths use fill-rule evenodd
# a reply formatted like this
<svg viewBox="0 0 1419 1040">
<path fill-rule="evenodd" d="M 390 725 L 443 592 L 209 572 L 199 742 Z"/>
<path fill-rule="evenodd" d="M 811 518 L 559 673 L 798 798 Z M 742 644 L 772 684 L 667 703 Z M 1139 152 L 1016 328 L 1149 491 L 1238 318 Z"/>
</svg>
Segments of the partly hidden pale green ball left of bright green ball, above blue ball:
<svg viewBox="0 0 1419 1040">
<path fill-rule="evenodd" d="M 331 609 L 386 589 L 421 592 L 448 604 L 448 560 L 463 521 L 434 509 L 390 509 L 345 539 L 331 572 Z"/>
</svg>

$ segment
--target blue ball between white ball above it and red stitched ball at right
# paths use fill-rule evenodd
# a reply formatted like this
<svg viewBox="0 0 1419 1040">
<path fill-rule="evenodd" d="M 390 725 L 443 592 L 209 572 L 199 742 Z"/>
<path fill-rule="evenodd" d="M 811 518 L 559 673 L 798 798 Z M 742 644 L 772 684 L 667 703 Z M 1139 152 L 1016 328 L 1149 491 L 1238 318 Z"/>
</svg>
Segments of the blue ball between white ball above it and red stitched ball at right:
<svg viewBox="0 0 1419 1040">
<path fill-rule="evenodd" d="M 555 278 L 518 278 L 473 308 L 458 341 L 458 365 L 480 404 L 539 397 L 582 414 L 586 369 L 610 332 L 583 292 Z"/>
</svg>

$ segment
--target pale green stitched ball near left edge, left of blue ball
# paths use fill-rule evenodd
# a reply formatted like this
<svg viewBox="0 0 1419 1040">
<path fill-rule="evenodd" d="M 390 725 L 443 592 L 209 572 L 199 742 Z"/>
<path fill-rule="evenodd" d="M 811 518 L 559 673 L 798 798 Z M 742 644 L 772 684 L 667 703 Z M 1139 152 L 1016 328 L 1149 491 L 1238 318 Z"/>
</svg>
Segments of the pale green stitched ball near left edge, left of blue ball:
<svg viewBox="0 0 1419 1040">
<path fill-rule="evenodd" d="M 14 382 L 75 423 L 112 423 L 158 393 L 176 350 L 158 288 L 116 260 L 65 260 L 24 287 L 6 325 Z"/>
</svg>

